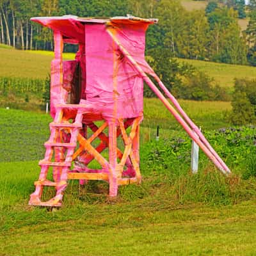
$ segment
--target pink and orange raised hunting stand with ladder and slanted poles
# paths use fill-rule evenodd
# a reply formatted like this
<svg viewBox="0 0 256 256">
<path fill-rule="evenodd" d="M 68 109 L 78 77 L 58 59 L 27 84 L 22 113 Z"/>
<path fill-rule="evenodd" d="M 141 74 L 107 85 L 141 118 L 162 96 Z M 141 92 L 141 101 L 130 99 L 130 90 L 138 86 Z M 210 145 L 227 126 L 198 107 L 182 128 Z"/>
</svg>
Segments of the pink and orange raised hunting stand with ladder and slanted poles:
<svg viewBox="0 0 256 256">
<path fill-rule="evenodd" d="M 60 207 L 70 179 L 78 179 L 80 184 L 86 180 L 106 180 L 109 196 L 117 195 L 118 186 L 141 182 L 139 141 L 143 82 L 216 167 L 230 173 L 145 61 L 145 33 L 156 19 L 131 16 L 91 19 L 67 15 L 31 20 L 52 29 L 54 60 L 51 64 L 51 136 L 45 143 L 45 157 L 39 162 L 41 172 L 30 205 Z M 63 61 L 64 43 L 78 45 L 75 60 Z M 154 77 L 173 106 L 147 74 Z M 119 136 L 124 143 L 123 150 L 118 148 Z M 92 161 L 97 161 L 101 168 L 90 168 Z M 47 177 L 50 167 L 52 181 Z M 55 187 L 56 195 L 42 202 L 45 186 Z"/>
</svg>

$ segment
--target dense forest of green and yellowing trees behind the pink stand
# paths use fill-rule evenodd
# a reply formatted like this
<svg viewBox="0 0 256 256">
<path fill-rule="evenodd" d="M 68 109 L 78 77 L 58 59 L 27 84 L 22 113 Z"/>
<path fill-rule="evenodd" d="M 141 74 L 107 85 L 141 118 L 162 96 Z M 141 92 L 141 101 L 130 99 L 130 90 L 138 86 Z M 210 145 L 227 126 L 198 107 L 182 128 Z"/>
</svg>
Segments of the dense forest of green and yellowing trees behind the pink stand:
<svg viewBox="0 0 256 256">
<path fill-rule="evenodd" d="M 205 10 L 189 12 L 179 0 L 0 0 L 0 44 L 52 50 L 51 31 L 29 21 L 35 16 L 129 13 L 159 19 L 148 29 L 148 51 L 165 48 L 180 58 L 256 65 L 255 6 L 255 0 L 247 10 L 244 0 L 210 1 Z M 242 32 L 237 19 L 246 15 L 250 22 Z"/>
</svg>

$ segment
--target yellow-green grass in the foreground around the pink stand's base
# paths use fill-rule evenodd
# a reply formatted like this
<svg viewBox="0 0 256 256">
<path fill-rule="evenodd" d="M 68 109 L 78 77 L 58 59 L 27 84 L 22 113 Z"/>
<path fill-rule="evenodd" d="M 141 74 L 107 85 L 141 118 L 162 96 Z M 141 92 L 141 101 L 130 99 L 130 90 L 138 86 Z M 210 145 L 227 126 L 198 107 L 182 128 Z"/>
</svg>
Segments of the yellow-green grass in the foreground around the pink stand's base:
<svg viewBox="0 0 256 256">
<path fill-rule="evenodd" d="M 85 190 L 70 182 L 63 207 L 51 212 L 27 205 L 36 165 L 0 165 L 0 255 L 255 253 L 254 179 L 244 184 L 216 172 L 178 170 L 174 179 L 168 170 L 142 170 L 143 183 L 120 188 L 115 201 L 102 182 Z"/>
</svg>

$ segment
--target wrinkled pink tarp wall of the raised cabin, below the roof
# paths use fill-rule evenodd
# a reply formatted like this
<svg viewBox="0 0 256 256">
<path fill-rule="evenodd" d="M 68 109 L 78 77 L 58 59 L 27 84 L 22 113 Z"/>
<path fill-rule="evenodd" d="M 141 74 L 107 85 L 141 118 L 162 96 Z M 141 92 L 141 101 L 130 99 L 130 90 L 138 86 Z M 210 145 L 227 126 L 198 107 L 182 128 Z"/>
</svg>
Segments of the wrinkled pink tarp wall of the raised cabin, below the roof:
<svg viewBox="0 0 256 256">
<path fill-rule="evenodd" d="M 138 116 L 143 111 L 143 79 L 106 33 L 105 24 L 86 24 L 85 31 L 86 100 L 97 103 L 105 118 Z M 145 31 L 132 32 L 125 28 L 122 33 L 117 31 L 125 44 L 129 36 L 129 49 L 143 60 Z"/>
</svg>

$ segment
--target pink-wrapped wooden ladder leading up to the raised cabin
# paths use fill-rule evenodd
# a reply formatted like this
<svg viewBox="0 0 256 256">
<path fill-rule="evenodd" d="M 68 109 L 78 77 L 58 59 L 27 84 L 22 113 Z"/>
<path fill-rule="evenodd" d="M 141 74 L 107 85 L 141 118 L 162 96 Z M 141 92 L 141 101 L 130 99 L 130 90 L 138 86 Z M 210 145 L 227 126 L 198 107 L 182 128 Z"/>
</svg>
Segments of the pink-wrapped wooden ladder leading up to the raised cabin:
<svg viewBox="0 0 256 256">
<path fill-rule="evenodd" d="M 82 128 L 83 111 L 77 108 L 75 122 L 70 124 L 63 118 L 63 109 L 67 108 L 68 104 L 58 106 L 54 121 L 50 124 L 51 136 L 45 143 L 45 157 L 39 162 L 41 172 L 39 179 L 35 182 L 35 192 L 31 194 L 29 205 L 42 205 L 49 207 L 60 207 L 63 192 L 67 188 L 68 171 L 72 163 L 72 155 L 77 146 L 77 136 L 79 129 Z M 61 142 L 61 130 L 67 129 L 70 131 L 70 141 L 68 143 Z M 54 153 L 54 161 L 52 156 Z M 66 155 L 64 156 L 64 153 Z M 49 167 L 52 166 L 54 181 L 47 180 Z M 53 186 L 56 188 L 56 195 L 42 202 L 42 193 L 45 186 Z"/>
</svg>

